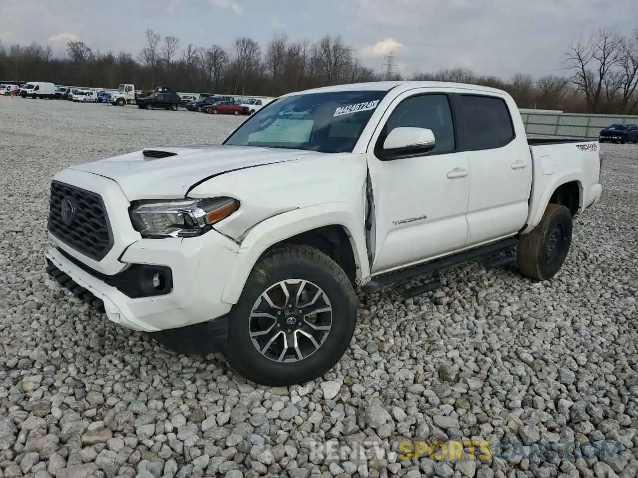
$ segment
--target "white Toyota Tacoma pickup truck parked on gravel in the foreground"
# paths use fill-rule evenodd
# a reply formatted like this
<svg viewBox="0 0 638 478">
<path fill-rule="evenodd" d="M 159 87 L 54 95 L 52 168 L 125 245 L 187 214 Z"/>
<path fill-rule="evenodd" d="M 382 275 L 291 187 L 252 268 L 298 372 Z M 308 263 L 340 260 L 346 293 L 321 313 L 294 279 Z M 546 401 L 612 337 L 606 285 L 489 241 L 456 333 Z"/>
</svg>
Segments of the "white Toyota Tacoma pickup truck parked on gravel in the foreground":
<svg viewBox="0 0 638 478">
<path fill-rule="evenodd" d="M 306 112 L 290 117 L 290 112 Z M 148 148 L 53 178 L 47 271 L 110 321 L 249 380 L 320 377 L 355 289 L 440 286 L 471 260 L 551 279 L 600 198 L 597 141 L 528 140 L 513 99 L 443 82 L 281 96 L 221 145 Z"/>
</svg>

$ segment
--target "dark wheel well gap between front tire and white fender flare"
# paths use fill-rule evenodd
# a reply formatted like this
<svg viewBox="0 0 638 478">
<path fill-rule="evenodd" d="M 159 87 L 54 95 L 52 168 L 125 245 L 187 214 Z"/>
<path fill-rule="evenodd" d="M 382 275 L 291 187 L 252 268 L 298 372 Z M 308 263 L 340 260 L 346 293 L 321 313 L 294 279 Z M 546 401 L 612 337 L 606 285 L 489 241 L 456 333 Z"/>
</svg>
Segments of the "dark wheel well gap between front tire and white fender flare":
<svg viewBox="0 0 638 478">
<path fill-rule="evenodd" d="M 281 239 L 267 247 L 262 254 L 260 254 L 260 257 L 286 245 L 308 245 L 315 247 L 315 249 L 329 256 L 343 269 L 353 286 L 359 284 L 361 270 L 359 257 L 355 254 L 352 235 L 342 224 L 326 224 Z"/>
</svg>

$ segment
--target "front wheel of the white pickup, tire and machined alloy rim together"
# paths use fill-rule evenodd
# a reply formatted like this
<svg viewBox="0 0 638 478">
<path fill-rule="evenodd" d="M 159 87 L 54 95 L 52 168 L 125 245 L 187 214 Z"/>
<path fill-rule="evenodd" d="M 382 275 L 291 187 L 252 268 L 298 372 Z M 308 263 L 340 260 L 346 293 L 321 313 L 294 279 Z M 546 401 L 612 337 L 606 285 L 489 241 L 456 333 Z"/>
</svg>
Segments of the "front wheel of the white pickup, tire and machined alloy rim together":
<svg viewBox="0 0 638 478">
<path fill-rule="evenodd" d="M 314 380 L 343 356 L 357 323 L 346 273 L 305 245 L 260 259 L 228 316 L 228 364 L 264 386 Z"/>
</svg>

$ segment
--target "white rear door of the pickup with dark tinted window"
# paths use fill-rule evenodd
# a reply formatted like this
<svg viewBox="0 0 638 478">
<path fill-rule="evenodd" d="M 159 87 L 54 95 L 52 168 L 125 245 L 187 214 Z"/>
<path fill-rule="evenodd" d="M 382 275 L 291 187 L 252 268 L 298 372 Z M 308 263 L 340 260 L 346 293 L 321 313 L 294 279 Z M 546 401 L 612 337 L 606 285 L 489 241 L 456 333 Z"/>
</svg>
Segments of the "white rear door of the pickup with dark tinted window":
<svg viewBox="0 0 638 478">
<path fill-rule="evenodd" d="M 470 159 L 468 247 L 512 235 L 528 217 L 530 148 L 521 134 L 524 126 L 514 126 L 512 106 L 505 98 L 483 93 L 452 96 L 459 148 Z"/>
</svg>

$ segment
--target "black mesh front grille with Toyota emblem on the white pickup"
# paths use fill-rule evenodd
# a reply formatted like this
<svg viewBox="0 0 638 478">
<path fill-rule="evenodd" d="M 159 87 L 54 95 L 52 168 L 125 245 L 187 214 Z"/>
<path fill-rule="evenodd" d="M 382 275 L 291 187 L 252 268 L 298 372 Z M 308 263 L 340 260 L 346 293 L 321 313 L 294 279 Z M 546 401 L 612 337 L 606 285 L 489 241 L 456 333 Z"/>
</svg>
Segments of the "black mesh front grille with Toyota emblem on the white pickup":
<svg viewBox="0 0 638 478">
<path fill-rule="evenodd" d="M 67 206 L 65 212 L 70 209 L 69 202 L 73 206 L 71 217 L 64 216 L 63 201 Z M 113 247 L 113 235 L 99 194 L 54 181 L 49 206 L 48 230 L 52 235 L 95 261 L 108 254 Z"/>
</svg>

